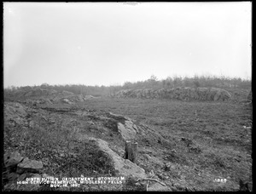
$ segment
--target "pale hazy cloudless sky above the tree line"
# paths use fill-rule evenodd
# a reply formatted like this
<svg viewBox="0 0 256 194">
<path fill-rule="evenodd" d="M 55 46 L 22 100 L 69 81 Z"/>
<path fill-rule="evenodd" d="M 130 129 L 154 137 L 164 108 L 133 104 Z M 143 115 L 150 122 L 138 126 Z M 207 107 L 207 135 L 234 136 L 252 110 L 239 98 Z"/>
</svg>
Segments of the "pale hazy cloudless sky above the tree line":
<svg viewBox="0 0 256 194">
<path fill-rule="evenodd" d="M 4 87 L 252 74 L 252 7 L 3 3 Z"/>
</svg>

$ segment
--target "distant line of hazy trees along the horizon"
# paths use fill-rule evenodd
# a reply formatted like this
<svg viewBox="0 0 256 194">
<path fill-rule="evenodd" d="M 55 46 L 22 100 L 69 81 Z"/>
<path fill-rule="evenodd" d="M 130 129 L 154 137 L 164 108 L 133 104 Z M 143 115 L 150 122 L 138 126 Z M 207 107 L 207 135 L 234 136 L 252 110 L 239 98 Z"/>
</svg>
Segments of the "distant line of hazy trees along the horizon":
<svg viewBox="0 0 256 194">
<path fill-rule="evenodd" d="M 158 80 L 152 75 L 148 80 L 139 81 L 136 83 L 125 82 L 123 85 L 111 86 L 86 86 L 82 84 L 66 84 L 66 85 L 49 85 L 43 83 L 39 86 L 15 87 L 11 86 L 4 88 L 5 94 L 16 90 L 29 91 L 35 88 L 54 89 L 56 91 L 66 90 L 73 94 L 84 95 L 110 95 L 118 92 L 121 89 L 143 89 L 143 88 L 177 88 L 177 87 L 204 87 L 204 88 L 251 88 L 251 80 L 241 79 L 239 77 L 215 77 L 215 76 L 194 76 L 194 77 L 166 77 L 166 79 Z"/>
</svg>

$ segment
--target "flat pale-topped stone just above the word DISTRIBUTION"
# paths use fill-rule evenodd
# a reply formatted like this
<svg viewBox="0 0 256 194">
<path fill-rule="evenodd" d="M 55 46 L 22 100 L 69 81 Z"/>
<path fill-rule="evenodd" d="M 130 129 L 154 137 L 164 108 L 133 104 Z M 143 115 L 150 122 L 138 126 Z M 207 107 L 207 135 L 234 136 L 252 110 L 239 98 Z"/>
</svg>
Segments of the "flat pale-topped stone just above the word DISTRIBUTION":
<svg viewBox="0 0 256 194">
<path fill-rule="evenodd" d="M 43 168 L 43 163 L 41 161 L 30 160 L 27 157 L 19 163 L 17 166 L 17 173 L 22 174 L 23 172 L 37 173 Z"/>
</svg>

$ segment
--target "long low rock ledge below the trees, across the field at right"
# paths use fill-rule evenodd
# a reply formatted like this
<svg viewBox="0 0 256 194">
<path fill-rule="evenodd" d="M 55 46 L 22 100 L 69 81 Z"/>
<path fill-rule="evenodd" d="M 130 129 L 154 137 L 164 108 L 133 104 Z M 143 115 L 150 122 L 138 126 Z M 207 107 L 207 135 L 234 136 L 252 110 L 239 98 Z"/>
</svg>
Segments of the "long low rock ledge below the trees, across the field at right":
<svg viewBox="0 0 256 194">
<path fill-rule="evenodd" d="M 126 89 L 120 90 L 114 97 L 117 98 L 140 98 L 140 99 L 171 99 L 171 100 L 229 100 L 231 95 L 221 88 L 161 88 L 154 90 Z"/>
</svg>

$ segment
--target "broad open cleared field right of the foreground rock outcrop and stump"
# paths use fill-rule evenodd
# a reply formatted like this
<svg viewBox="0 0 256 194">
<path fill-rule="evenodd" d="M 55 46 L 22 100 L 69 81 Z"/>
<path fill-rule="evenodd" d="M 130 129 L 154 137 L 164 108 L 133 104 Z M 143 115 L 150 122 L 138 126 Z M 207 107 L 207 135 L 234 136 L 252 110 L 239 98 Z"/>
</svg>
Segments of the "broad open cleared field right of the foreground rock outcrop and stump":
<svg viewBox="0 0 256 194">
<path fill-rule="evenodd" d="M 181 186 L 234 191 L 239 188 L 240 179 L 252 183 L 252 129 L 245 128 L 252 127 L 252 106 L 110 98 L 79 106 L 125 115 L 158 131 L 171 146 L 151 144 L 150 138 L 139 142 L 139 146 L 155 151 L 154 157 L 165 163 L 174 163 L 174 170 L 166 176 Z M 143 157 L 141 160 L 144 165 Z M 218 178 L 228 181 L 215 183 L 213 180 Z"/>
</svg>

